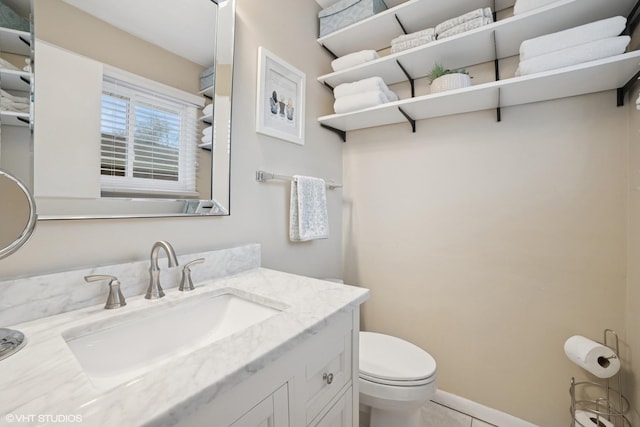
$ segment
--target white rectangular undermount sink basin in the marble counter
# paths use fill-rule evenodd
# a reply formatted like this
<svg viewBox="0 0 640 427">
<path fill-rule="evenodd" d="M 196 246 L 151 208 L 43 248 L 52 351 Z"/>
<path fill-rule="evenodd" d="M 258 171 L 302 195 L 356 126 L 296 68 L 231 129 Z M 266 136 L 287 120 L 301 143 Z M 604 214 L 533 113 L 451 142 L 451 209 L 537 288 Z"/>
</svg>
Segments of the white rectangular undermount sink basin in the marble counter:
<svg viewBox="0 0 640 427">
<path fill-rule="evenodd" d="M 111 388 L 280 311 L 231 291 L 204 294 L 74 328 L 63 338 L 92 383 Z"/>
</svg>

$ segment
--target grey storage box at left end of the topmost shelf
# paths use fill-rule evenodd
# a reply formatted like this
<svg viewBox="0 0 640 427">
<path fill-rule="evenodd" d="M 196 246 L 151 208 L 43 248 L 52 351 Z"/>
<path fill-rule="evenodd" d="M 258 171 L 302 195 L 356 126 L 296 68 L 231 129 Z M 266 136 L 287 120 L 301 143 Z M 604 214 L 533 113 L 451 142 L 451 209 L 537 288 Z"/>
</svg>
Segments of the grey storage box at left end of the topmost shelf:
<svg viewBox="0 0 640 427">
<path fill-rule="evenodd" d="M 382 12 L 383 0 L 341 0 L 318 13 L 320 37 Z"/>
</svg>

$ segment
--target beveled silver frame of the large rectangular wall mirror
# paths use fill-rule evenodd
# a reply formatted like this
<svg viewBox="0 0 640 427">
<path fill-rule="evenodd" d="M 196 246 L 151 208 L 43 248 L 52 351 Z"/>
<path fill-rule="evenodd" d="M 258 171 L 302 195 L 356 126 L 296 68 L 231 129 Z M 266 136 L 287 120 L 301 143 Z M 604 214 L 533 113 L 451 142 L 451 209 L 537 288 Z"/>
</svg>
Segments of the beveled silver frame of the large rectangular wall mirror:
<svg viewBox="0 0 640 427">
<path fill-rule="evenodd" d="M 205 0 L 203 0 L 205 1 Z M 182 217 L 202 217 L 202 218 L 206 218 L 206 217 L 214 217 L 214 216 L 229 216 L 231 214 L 231 141 L 232 141 L 232 136 L 231 136 L 231 122 L 232 122 L 232 100 L 233 100 L 233 70 L 234 70 L 234 59 L 235 59 L 235 39 L 236 39 L 236 21 L 237 21 L 237 17 L 236 17 L 236 0 L 222 0 L 222 1 L 215 1 L 215 0 L 210 0 L 212 3 L 216 4 L 218 7 L 218 13 L 217 13 L 217 17 L 216 19 L 218 20 L 218 22 L 216 22 L 216 39 L 215 39 L 215 45 L 214 45 L 214 50 L 215 50 L 215 63 L 214 65 L 219 65 L 220 63 L 220 43 L 221 43 L 221 39 L 224 40 L 225 43 L 228 43 L 228 46 L 223 46 L 222 49 L 226 49 L 227 52 L 230 52 L 231 55 L 231 63 L 230 65 L 230 79 L 228 80 L 228 89 L 229 89 L 229 94 L 228 94 L 228 104 L 229 104 L 229 112 L 228 112 L 228 119 L 229 119 L 229 126 L 228 126 L 228 134 L 225 135 L 228 137 L 228 154 L 226 156 L 226 171 L 224 171 L 224 168 L 220 169 L 221 171 L 223 171 L 224 175 L 226 175 L 226 189 L 222 192 L 223 194 L 218 194 L 216 197 L 216 192 L 214 191 L 215 186 L 212 183 L 212 187 L 211 187 L 211 194 L 209 195 L 210 199 L 202 199 L 201 202 L 205 202 L 205 204 L 209 203 L 213 206 L 212 212 L 214 213 L 206 213 L 207 211 L 205 211 L 205 213 L 191 213 L 187 211 L 187 205 L 188 205 L 188 201 L 191 200 L 192 203 L 197 201 L 196 199 L 184 199 L 185 200 L 185 210 L 183 212 L 175 212 L 175 213 L 149 213 L 149 212 L 142 212 L 142 213 L 101 213 L 101 212 L 91 212 L 91 213 L 77 213 L 77 212 L 73 212 L 73 211 L 68 211 L 65 213 L 52 213 L 52 212 L 39 212 L 39 219 L 40 220 L 77 220 L 77 219 L 121 219 L 121 218 L 182 218 Z M 32 4 L 33 7 L 33 4 Z M 224 10 L 225 13 L 221 13 L 221 10 Z M 229 22 L 227 23 L 222 23 L 220 22 L 220 19 L 222 17 L 225 17 L 228 19 Z M 34 31 L 34 30 L 32 30 Z M 221 37 L 221 35 L 224 35 L 225 37 Z M 37 52 L 35 53 L 35 61 L 37 61 Z M 34 62 L 35 62 L 34 61 Z M 37 79 L 37 67 L 35 67 L 34 69 L 34 73 L 35 73 L 35 79 Z M 215 98 L 216 98 L 216 88 L 221 85 L 221 81 L 220 79 L 223 78 L 223 76 L 220 76 L 220 74 L 218 74 L 217 72 L 214 75 L 214 93 L 212 95 L 211 101 L 215 102 Z M 215 114 L 215 113 L 214 113 Z M 37 120 L 37 119 L 35 119 Z M 32 124 L 33 126 L 33 124 Z M 227 126 L 224 126 L 225 128 L 227 128 Z M 227 145 L 227 144 L 225 144 Z M 213 153 L 212 153 L 212 157 L 213 157 Z M 213 181 L 213 176 L 215 174 L 214 172 L 214 165 L 212 164 L 212 171 L 211 171 L 211 178 Z M 225 173 L 226 172 L 226 173 Z M 35 174 L 35 170 L 32 171 L 32 173 Z M 224 185 L 224 184 L 223 184 Z M 220 191 L 218 192 L 220 193 Z M 104 200 L 104 199 L 108 199 L 108 198 L 99 198 L 96 200 Z M 139 202 L 141 200 L 144 200 L 142 198 L 128 198 L 128 197 L 124 197 L 122 199 L 132 199 L 135 202 Z M 121 199 L 121 200 L 122 200 Z M 149 199 L 151 201 L 158 201 L 159 199 Z M 176 200 L 179 201 L 180 199 L 167 199 L 167 200 Z M 42 207 L 41 207 L 42 209 Z"/>
</svg>

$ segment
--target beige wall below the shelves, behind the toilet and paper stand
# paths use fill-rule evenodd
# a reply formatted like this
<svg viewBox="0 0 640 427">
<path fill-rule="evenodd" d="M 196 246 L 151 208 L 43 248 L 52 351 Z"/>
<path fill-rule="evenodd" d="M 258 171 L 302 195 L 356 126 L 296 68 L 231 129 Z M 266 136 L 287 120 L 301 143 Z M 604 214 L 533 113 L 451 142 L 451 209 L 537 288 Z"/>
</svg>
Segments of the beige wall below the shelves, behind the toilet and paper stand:
<svg viewBox="0 0 640 427">
<path fill-rule="evenodd" d="M 606 92 L 350 133 L 345 281 L 443 390 L 569 424 L 563 352 L 625 334 L 627 109 Z"/>
</svg>

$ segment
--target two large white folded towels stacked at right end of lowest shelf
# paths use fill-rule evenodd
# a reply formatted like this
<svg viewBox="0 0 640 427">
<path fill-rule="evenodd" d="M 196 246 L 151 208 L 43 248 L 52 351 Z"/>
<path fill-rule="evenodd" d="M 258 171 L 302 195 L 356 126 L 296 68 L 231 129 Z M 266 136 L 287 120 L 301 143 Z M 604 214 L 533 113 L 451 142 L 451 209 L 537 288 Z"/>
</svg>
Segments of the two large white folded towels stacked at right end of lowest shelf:
<svg viewBox="0 0 640 427">
<path fill-rule="evenodd" d="M 629 36 L 619 36 L 626 23 L 626 18 L 615 16 L 525 40 L 520 45 L 520 64 L 516 76 L 620 55 L 631 41 Z"/>
</svg>

